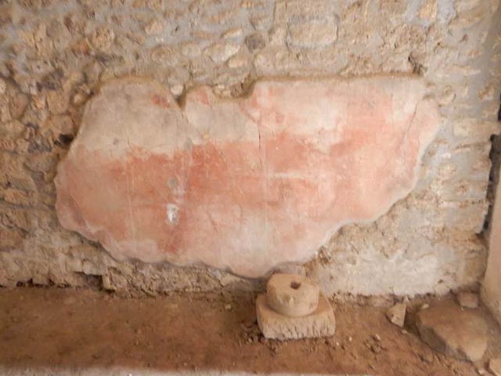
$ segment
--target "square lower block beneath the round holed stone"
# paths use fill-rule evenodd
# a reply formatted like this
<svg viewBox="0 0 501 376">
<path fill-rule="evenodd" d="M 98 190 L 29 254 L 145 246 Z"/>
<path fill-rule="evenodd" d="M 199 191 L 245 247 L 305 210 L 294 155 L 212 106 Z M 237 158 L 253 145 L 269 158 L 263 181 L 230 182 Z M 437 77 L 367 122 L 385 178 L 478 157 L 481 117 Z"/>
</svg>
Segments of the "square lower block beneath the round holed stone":
<svg viewBox="0 0 501 376">
<path fill-rule="evenodd" d="M 258 324 L 266 338 L 299 339 L 327 337 L 336 331 L 336 319 L 329 301 L 320 295 L 318 308 L 303 317 L 288 317 L 275 312 L 267 302 L 266 294 L 256 300 Z"/>
</svg>

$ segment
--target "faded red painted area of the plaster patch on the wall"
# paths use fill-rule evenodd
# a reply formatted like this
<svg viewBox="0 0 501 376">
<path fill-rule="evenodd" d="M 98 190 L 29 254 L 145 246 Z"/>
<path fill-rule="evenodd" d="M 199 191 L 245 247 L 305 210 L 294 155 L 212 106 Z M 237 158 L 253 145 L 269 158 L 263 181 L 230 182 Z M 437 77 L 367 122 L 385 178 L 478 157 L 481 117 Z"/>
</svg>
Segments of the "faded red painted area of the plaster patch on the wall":
<svg viewBox="0 0 501 376">
<path fill-rule="evenodd" d="M 282 103 L 300 88 L 257 88 L 235 105 L 248 121 L 259 114 L 259 139 L 209 138 L 171 153 L 132 145 L 120 157 L 77 143 L 59 166 L 60 221 L 116 257 L 199 260 L 249 276 L 304 259 L 337 226 L 374 218 L 409 192 L 421 138 L 429 142 L 438 125 L 434 113 L 420 114 L 418 124 L 412 112 L 394 122 L 392 96 L 361 86 L 356 98 L 327 87 L 332 105 L 345 105 L 325 119 L 309 112 L 319 98 L 301 98 L 304 113 Z M 153 104 L 168 109 L 167 95 L 153 93 Z M 187 100 L 218 105 L 203 88 Z M 312 121 L 331 123 L 305 125 Z"/>
</svg>

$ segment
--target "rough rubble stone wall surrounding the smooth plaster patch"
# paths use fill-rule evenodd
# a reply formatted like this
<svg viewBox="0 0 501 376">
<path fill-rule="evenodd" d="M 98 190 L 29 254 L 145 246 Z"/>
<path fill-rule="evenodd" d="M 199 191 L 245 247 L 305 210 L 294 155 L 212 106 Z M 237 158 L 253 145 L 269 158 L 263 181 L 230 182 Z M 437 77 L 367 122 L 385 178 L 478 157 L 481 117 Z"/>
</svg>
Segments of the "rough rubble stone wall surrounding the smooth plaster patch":
<svg viewBox="0 0 501 376">
<path fill-rule="evenodd" d="M 324 291 L 477 286 L 491 134 L 499 132 L 497 0 L 19 1 L 0 5 L 0 285 L 118 291 L 256 288 L 217 269 L 116 261 L 58 222 L 54 176 L 85 103 L 115 77 L 239 96 L 266 77 L 414 74 L 440 106 L 414 191 L 347 225 L 304 266 Z M 99 182 L 97 182 L 99 183 Z"/>
</svg>

